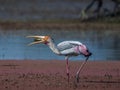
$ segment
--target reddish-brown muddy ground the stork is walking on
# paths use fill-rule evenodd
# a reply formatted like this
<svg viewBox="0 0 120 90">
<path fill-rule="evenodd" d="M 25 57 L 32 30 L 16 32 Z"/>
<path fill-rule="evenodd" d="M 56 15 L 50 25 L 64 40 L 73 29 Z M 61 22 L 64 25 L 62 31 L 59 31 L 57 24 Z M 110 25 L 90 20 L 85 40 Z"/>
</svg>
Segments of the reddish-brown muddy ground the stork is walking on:
<svg viewBox="0 0 120 90">
<path fill-rule="evenodd" d="M 119 61 L 89 61 L 76 83 L 81 63 L 69 62 L 68 83 L 65 61 L 0 60 L 0 90 L 120 90 Z"/>
</svg>

